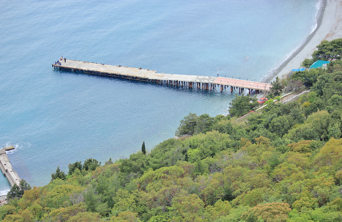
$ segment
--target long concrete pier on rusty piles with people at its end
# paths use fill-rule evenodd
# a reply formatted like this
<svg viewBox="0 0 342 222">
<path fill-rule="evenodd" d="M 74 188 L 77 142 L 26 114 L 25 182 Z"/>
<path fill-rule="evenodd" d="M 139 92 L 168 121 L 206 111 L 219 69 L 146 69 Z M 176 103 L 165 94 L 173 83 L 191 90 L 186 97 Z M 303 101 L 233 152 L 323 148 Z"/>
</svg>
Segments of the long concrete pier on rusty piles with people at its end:
<svg viewBox="0 0 342 222">
<path fill-rule="evenodd" d="M 72 72 L 83 72 L 94 75 L 103 75 L 108 77 L 118 77 L 131 80 L 139 80 L 145 82 L 153 82 L 157 84 L 166 84 L 171 86 L 184 86 L 188 88 L 197 87 L 198 89 L 213 90 L 216 87 L 221 88 L 221 92 L 226 87 L 230 86 L 231 93 L 236 88 L 239 88 L 239 94 L 244 92 L 245 88 L 248 89 L 250 94 L 255 90 L 255 93 L 260 91 L 268 91 L 271 87 L 269 83 L 247 81 L 240 79 L 231 79 L 225 77 L 209 77 L 200 75 L 179 75 L 179 74 L 166 74 L 157 73 L 155 70 L 131 68 L 124 66 L 111 66 L 98 63 L 89 63 L 83 61 L 76 61 L 64 59 L 60 65 L 52 64 L 54 69 L 60 69 Z"/>
</svg>

